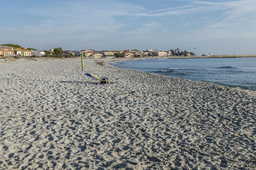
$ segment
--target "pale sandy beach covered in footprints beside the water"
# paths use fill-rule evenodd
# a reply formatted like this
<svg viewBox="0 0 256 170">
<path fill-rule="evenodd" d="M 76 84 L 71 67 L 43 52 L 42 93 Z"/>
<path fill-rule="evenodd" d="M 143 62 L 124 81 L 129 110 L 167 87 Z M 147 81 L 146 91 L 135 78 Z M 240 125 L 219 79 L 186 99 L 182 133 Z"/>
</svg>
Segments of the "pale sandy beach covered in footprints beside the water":
<svg viewBox="0 0 256 170">
<path fill-rule="evenodd" d="M 256 91 L 116 60 L 0 63 L 0 169 L 256 169 Z"/>
</svg>

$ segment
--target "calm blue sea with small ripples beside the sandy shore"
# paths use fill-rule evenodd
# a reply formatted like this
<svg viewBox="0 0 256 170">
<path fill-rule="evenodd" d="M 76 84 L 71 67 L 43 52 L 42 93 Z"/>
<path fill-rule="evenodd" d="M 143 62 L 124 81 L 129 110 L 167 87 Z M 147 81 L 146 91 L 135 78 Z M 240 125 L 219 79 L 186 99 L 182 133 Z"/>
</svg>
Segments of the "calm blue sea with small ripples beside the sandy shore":
<svg viewBox="0 0 256 170">
<path fill-rule="evenodd" d="M 112 65 L 123 69 L 256 90 L 256 57 L 141 59 L 115 62 Z"/>
</svg>

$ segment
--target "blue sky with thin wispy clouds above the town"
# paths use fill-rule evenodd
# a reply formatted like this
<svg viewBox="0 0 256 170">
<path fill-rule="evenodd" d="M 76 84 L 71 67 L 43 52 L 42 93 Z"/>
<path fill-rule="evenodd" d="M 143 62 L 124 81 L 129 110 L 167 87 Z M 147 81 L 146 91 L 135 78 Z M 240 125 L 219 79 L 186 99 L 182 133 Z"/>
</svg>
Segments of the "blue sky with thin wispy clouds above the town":
<svg viewBox="0 0 256 170">
<path fill-rule="evenodd" d="M 12 0 L 1 7 L 0 44 L 256 53 L 255 0 Z"/>
</svg>

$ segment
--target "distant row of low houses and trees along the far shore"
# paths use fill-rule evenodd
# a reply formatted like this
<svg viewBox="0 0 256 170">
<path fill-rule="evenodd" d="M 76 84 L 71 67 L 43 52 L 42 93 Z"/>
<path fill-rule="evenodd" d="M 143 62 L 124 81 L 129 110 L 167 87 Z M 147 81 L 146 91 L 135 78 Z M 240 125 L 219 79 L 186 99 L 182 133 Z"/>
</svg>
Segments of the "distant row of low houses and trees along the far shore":
<svg viewBox="0 0 256 170">
<path fill-rule="evenodd" d="M 191 57 L 195 56 L 193 52 L 180 52 L 179 48 L 174 50 L 122 50 L 122 51 L 95 51 L 95 50 L 80 50 L 69 51 L 62 50 L 61 47 L 52 48 L 49 50 L 36 50 L 35 48 L 26 48 L 19 45 L 4 44 L 0 45 L 0 56 L 13 56 L 13 57 L 79 57 L 83 53 L 84 57 L 90 58 L 103 58 L 103 57 L 172 57 L 182 56 Z"/>
</svg>

